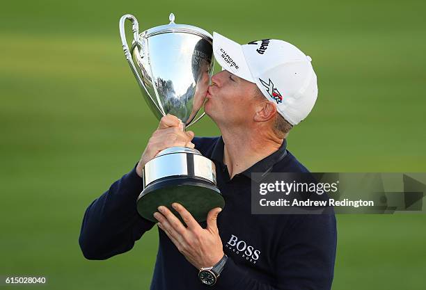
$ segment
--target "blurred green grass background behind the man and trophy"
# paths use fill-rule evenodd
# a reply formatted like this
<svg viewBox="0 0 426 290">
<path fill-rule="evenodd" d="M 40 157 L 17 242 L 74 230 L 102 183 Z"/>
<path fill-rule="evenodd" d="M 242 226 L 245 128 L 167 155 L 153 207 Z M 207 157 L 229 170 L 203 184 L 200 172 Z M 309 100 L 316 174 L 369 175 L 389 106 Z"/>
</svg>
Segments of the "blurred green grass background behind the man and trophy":
<svg viewBox="0 0 426 290">
<path fill-rule="evenodd" d="M 107 261 L 78 245 L 88 204 L 132 169 L 157 120 L 118 19 L 176 22 L 313 58 L 317 104 L 289 150 L 311 171 L 426 172 L 425 1 L 7 1 L 0 8 L 0 275 L 40 289 L 148 289 L 157 230 Z M 219 131 L 209 118 L 198 136 Z M 426 216 L 338 218 L 333 289 L 425 289 Z M 7 289 L 7 287 L 0 287 Z M 10 287 L 10 289 L 28 287 Z"/>
</svg>

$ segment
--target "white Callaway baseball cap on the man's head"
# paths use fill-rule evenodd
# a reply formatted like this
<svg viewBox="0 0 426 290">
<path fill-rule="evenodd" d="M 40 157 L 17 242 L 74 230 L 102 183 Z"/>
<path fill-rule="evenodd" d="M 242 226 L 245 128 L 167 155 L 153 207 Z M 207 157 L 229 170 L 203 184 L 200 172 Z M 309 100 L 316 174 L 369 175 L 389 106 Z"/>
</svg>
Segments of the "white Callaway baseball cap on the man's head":
<svg viewBox="0 0 426 290">
<path fill-rule="evenodd" d="M 317 100 L 312 59 L 283 40 L 265 39 L 239 45 L 213 33 L 216 61 L 232 74 L 255 83 L 290 124 L 299 124 Z"/>
</svg>

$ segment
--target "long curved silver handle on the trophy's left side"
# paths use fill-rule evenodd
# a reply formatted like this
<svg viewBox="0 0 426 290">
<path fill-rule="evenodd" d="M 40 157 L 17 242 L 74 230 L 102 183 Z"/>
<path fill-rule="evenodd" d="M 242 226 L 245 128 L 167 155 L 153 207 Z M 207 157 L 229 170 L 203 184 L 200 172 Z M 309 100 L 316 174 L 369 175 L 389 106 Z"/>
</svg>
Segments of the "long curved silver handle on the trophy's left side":
<svg viewBox="0 0 426 290">
<path fill-rule="evenodd" d="M 129 50 L 129 46 L 127 45 L 127 40 L 126 40 L 126 33 L 125 33 L 125 22 L 126 19 L 129 19 L 132 22 L 132 31 L 133 31 L 133 38 L 134 38 L 134 45 L 132 45 L 132 51 Z M 143 80 L 141 79 L 141 76 L 139 76 L 137 70 L 136 70 L 136 66 L 133 63 L 133 59 L 132 59 L 132 52 L 135 49 L 135 47 L 139 47 L 141 48 L 141 42 L 139 42 L 139 23 L 138 20 L 136 20 L 136 17 L 134 17 L 133 15 L 130 14 L 126 14 L 123 15 L 120 18 L 120 22 L 118 24 L 120 26 L 120 37 L 121 37 L 121 42 L 123 44 L 123 51 L 125 53 L 125 57 L 127 60 L 127 63 L 129 63 L 130 65 L 130 70 L 132 70 L 134 77 L 136 78 L 136 81 L 138 81 L 139 86 L 141 87 L 141 89 L 143 88 L 143 90 L 145 90 L 145 92 L 147 93 L 148 97 L 150 97 L 152 103 L 155 104 L 155 106 L 157 107 L 159 113 L 161 115 L 164 115 L 163 111 L 159 108 L 159 106 L 157 105 L 157 102 L 154 101 L 154 99 L 151 97 L 150 93 L 148 92 L 148 90 L 145 87 L 145 84 L 143 83 Z"/>
</svg>

